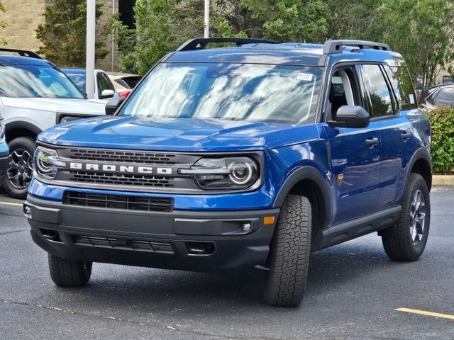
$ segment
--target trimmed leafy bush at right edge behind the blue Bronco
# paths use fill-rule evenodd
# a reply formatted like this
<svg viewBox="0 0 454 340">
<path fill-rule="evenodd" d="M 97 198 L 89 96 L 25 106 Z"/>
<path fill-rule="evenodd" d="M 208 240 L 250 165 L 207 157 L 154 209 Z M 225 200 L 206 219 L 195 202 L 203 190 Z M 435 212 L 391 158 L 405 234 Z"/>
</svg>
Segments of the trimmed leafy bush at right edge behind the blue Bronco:
<svg viewBox="0 0 454 340">
<path fill-rule="evenodd" d="M 454 109 L 441 107 L 428 112 L 432 125 L 433 171 L 450 174 L 454 168 Z"/>
</svg>

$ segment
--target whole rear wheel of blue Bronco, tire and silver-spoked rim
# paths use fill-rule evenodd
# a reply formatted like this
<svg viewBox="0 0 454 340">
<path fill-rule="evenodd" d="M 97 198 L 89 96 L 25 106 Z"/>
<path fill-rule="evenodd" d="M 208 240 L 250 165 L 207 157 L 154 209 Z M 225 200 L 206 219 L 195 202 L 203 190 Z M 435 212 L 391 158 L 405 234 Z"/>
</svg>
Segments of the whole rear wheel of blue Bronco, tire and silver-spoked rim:
<svg viewBox="0 0 454 340">
<path fill-rule="evenodd" d="M 395 261 L 416 261 L 426 248 L 431 222 L 430 196 L 421 175 L 410 174 L 401 205 L 396 227 L 382 233 L 384 251 Z"/>
</svg>

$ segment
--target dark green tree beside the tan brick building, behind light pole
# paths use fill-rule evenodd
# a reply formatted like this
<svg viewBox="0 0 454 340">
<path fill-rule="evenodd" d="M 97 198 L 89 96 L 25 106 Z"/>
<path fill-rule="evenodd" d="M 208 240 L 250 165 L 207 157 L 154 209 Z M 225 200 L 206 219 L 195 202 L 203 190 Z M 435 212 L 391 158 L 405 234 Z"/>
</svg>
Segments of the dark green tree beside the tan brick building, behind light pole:
<svg viewBox="0 0 454 340">
<path fill-rule="evenodd" d="M 96 20 L 102 14 L 96 4 Z M 43 42 L 38 53 L 61 66 L 85 66 L 87 3 L 84 0 L 55 0 L 45 9 L 45 23 L 36 29 L 36 38 Z M 106 30 L 97 30 L 95 58 L 109 53 L 102 40 Z"/>
</svg>

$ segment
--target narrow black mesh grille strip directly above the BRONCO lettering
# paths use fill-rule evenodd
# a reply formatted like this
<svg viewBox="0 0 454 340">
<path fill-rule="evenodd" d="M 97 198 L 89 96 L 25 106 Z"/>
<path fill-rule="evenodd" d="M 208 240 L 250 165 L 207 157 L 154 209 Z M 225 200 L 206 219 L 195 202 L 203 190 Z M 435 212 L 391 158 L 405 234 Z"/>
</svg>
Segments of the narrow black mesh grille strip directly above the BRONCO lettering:
<svg viewBox="0 0 454 340">
<path fill-rule="evenodd" d="M 175 154 L 132 152 L 103 149 L 70 149 L 70 158 L 98 162 L 127 162 L 139 164 L 175 164 Z"/>
</svg>

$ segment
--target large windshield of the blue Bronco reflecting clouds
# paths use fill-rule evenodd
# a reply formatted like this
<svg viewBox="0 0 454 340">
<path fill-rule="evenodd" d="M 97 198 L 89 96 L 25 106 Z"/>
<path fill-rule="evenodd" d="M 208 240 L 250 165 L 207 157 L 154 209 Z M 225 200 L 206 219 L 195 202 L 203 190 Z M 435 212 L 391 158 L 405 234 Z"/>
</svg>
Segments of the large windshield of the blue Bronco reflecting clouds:
<svg viewBox="0 0 454 340">
<path fill-rule="evenodd" d="M 159 64 L 120 115 L 314 122 L 321 68 L 264 64 Z"/>
</svg>

